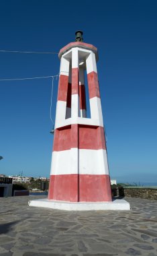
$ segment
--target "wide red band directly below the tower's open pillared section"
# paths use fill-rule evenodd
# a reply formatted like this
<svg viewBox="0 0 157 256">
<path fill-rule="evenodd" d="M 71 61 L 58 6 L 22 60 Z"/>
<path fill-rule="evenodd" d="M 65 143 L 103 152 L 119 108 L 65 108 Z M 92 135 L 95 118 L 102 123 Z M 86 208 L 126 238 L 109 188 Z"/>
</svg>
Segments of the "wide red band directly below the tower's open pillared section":
<svg viewBox="0 0 157 256">
<path fill-rule="evenodd" d="M 53 151 L 70 150 L 70 148 L 105 150 L 103 127 L 68 125 L 55 129 Z"/>
</svg>

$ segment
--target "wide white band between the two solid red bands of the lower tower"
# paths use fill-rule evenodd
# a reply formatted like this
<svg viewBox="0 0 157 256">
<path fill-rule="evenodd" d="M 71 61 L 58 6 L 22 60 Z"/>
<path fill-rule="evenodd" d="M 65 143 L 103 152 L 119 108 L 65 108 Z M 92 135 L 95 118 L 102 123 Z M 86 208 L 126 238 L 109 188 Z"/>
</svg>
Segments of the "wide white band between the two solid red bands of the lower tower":
<svg viewBox="0 0 157 256">
<path fill-rule="evenodd" d="M 109 174 L 106 150 L 63 150 L 52 153 L 51 175 Z"/>
</svg>

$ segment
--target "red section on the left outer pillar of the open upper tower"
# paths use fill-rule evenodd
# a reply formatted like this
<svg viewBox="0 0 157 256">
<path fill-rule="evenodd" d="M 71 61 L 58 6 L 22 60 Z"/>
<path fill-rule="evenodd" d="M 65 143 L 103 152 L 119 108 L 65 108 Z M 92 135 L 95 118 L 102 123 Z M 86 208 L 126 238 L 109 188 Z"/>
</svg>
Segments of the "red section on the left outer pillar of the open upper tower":
<svg viewBox="0 0 157 256">
<path fill-rule="evenodd" d="M 58 100 L 66 101 L 68 91 L 68 76 L 60 75 L 58 84 Z"/>
</svg>

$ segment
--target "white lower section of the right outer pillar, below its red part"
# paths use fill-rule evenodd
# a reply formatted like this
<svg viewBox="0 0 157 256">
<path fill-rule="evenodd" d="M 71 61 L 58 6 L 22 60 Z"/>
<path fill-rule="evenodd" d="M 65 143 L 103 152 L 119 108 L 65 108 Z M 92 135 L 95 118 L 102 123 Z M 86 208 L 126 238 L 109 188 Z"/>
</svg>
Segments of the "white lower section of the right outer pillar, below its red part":
<svg viewBox="0 0 157 256">
<path fill-rule="evenodd" d="M 101 99 L 98 97 L 90 98 L 91 119 L 98 119 L 101 126 L 103 126 L 103 115 L 101 108 Z"/>
</svg>

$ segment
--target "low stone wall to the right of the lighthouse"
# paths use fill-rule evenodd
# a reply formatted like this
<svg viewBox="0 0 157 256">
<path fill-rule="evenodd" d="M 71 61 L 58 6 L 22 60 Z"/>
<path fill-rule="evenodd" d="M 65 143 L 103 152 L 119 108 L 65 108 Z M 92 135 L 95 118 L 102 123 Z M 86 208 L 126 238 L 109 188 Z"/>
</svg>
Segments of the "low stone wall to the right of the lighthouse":
<svg viewBox="0 0 157 256">
<path fill-rule="evenodd" d="M 126 197 L 140 197 L 157 200 L 157 189 L 124 187 L 123 193 Z"/>
</svg>

